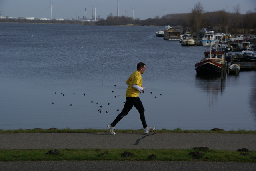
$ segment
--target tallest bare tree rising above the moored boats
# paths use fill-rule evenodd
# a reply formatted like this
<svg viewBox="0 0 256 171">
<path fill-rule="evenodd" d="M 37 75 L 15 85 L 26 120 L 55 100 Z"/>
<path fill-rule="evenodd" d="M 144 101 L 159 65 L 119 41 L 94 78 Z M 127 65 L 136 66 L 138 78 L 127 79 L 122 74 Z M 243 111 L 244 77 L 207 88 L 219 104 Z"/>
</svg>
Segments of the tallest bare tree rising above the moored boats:
<svg viewBox="0 0 256 171">
<path fill-rule="evenodd" d="M 189 25 L 191 26 L 192 32 L 198 32 L 199 28 L 202 28 L 202 15 L 204 13 L 204 7 L 201 2 L 198 2 L 192 8 L 189 16 Z"/>
</svg>

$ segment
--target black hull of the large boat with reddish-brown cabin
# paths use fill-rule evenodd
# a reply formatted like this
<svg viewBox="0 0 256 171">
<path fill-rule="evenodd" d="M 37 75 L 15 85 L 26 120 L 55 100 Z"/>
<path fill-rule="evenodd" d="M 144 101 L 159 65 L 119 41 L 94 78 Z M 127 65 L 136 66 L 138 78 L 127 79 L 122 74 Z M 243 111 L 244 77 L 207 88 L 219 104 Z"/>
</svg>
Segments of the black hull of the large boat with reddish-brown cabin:
<svg viewBox="0 0 256 171">
<path fill-rule="evenodd" d="M 222 72 L 222 64 L 213 62 L 212 60 L 206 60 L 203 62 L 196 63 L 195 70 L 196 74 L 221 74 Z"/>
</svg>

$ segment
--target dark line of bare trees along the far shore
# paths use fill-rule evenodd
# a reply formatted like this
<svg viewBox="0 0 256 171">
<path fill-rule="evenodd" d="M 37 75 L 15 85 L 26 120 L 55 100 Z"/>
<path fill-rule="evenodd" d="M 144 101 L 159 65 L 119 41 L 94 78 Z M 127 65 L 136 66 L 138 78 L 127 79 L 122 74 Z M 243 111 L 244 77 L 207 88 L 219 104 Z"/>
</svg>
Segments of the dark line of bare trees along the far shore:
<svg viewBox="0 0 256 171">
<path fill-rule="evenodd" d="M 165 26 L 167 24 L 173 27 L 182 28 L 183 32 L 192 32 L 194 35 L 202 28 L 211 27 L 215 32 L 228 32 L 234 35 L 255 35 L 256 34 L 256 8 L 254 12 L 248 10 L 246 14 L 240 13 L 240 5 L 233 7 L 234 12 L 227 12 L 225 9 L 214 12 L 204 12 L 201 2 L 194 5 L 190 13 L 166 14 L 161 18 L 148 18 L 140 20 L 125 16 L 108 16 L 106 19 L 100 19 L 96 22 L 82 22 L 80 20 L 26 20 L 18 19 L 18 22 L 26 23 L 58 23 L 58 24 L 84 24 L 84 25 L 136 25 L 136 26 Z M 17 22 L 14 19 L 0 19 L 0 22 Z"/>
</svg>

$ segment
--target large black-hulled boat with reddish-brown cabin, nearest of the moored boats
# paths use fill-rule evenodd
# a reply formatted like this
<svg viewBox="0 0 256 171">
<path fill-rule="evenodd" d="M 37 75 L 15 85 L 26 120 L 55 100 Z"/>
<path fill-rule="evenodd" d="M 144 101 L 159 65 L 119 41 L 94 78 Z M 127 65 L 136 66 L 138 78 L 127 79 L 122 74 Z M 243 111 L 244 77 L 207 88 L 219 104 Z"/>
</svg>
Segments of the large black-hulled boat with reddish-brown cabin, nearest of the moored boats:
<svg viewBox="0 0 256 171">
<path fill-rule="evenodd" d="M 204 58 L 195 64 L 197 74 L 221 74 L 225 64 L 225 52 L 207 51 Z"/>
</svg>

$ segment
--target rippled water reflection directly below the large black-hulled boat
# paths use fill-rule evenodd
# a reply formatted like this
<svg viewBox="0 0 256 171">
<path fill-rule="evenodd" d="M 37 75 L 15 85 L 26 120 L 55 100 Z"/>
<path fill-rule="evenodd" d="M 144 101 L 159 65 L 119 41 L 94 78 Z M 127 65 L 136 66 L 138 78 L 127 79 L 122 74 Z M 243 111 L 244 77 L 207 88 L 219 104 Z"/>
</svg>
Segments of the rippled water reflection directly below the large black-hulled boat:
<svg viewBox="0 0 256 171">
<path fill-rule="evenodd" d="M 212 108 L 218 100 L 218 95 L 224 92 L 225 79 L 221 79 L 220 76 L 196 75 L 195 80 L 196 87 L 209 97 L 208 105 Z"/>
</svg>

